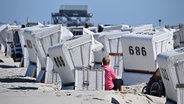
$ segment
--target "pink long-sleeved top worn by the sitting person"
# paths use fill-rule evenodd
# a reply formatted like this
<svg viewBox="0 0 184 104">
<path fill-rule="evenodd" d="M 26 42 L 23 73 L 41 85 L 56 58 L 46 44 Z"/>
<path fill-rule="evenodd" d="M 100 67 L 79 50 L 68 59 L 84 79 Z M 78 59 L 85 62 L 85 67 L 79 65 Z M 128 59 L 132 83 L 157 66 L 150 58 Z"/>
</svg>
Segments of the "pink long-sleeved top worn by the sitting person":
<svg viewBox="0 0 184 104">
<path fill-rule="evenodd" d="M 112 79 L 116 78 L 114 70 L 108 65 L 103 65 L 102 68 L 105 70 L 105 90 L 111 90 L 114 87 Z"/>
</svg>

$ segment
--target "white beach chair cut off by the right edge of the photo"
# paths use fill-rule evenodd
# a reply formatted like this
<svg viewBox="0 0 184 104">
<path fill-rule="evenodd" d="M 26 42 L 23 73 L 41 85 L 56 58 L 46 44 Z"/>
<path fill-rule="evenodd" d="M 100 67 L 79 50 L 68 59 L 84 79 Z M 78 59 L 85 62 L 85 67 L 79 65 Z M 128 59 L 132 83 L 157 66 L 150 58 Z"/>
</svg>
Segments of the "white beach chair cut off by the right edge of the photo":
<svg viewBox="0 0 184 104">
<path fill-rule="evenodd" d="M 157 61 L 166 89 L 166 97 L 183 104 L 184 48 L 158 54 Z"/>
</svg>

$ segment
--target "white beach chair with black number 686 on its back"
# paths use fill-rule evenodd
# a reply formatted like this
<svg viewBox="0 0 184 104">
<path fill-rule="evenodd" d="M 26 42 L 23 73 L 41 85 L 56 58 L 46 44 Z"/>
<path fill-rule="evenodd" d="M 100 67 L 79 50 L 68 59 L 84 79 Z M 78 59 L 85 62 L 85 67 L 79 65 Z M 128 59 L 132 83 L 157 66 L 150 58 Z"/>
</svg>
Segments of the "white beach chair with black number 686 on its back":
<svg viewBox="0 0 184 104">
<path fill-rule="evenodd" d="M 122 36 L 125 71 L 154 73 L 156 56 L 173 49 L 172 34 L 167 31 Z"/>
</svg>

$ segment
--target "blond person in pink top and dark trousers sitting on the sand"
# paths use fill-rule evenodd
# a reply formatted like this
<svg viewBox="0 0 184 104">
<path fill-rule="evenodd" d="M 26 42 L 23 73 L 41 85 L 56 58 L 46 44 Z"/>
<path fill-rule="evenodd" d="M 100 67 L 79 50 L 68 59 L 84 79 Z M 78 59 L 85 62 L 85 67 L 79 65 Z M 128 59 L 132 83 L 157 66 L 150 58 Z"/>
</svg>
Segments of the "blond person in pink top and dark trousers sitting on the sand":
<svg viewBox="0 0 184 104">
<path fill-rule="evenodd" d="M 118 90 L 123 91 L 123 80 L 117 79 L 114 69 L 109 67 L 110 58 L 105 56 L 102 59 L 102 68 L 105 70 L 105 90 Z"/>
</svg>

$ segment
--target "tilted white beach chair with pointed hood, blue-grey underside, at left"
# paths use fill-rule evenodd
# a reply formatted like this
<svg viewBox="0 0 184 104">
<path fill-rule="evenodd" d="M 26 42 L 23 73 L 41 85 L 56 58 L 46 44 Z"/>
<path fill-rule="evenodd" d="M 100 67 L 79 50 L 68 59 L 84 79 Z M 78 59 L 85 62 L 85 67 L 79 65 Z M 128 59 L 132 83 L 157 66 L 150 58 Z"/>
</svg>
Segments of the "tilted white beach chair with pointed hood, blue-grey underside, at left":
<svg viewBox="0 0 184 104">
<path fill-rule="evenodd" d="M 48 56 L 48 48 L 72 36 L 72 33 L 61 25 L 34 26 L 25 29 L 24 37 L 30 60 L 26 75 L 31 73 L 31 76 L 33 76 L 36 72 L 38 82 L 57 82 L 56 79 L 59 80 L 59 78 L 55 78 L 57 71 L 53 71 L 53 63 Z M 35 65 L 38 66 L 39 62 L 40 68 L 36 70 Z"/>
</svg>

